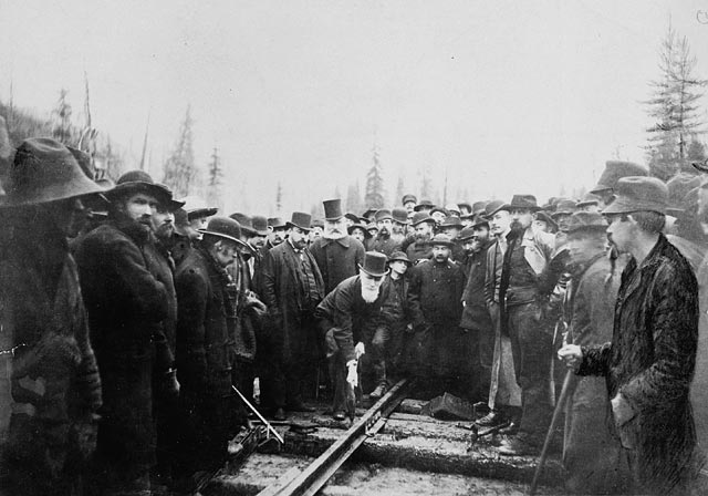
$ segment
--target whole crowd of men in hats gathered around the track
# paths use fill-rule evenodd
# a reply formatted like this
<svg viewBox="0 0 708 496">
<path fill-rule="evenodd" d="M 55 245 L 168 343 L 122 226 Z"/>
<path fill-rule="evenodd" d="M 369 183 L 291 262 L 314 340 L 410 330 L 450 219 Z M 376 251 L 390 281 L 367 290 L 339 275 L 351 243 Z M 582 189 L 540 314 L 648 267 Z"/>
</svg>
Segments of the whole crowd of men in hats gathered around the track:
<svg viewBox="0 0 708 496">
<path fill-rule="evenodd" d="M 249 426 L 241 397 L 283 421 L 329 393 L 345 421 L 404 376 L 485 402 L 506 456 L 539 454 L 565 383 L 570 492 L 688 490 L 700 175 L 607 162 L 580 200 L 331 199 L 289 220 L 142 170 L 92 179 L 84 153 L 31 138 L 3 184 L 8 494 L 189 493 Z"/>
</svg>

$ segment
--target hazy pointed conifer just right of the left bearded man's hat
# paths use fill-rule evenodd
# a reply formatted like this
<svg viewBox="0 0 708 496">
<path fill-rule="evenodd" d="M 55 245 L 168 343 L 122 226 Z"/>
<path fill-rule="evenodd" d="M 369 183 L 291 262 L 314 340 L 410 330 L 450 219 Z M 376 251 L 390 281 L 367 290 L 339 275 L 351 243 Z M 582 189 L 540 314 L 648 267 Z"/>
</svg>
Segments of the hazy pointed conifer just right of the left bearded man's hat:
<svg viewBox="0 0 708 496">
<path fill-rule="evenodd" d="M 187 106 L 185 121 L 179 130 L 179 137 L 175 149 L 165 162 L 163 182 L 171 188 L 176 198 L 181 198 L 194 192 L 198 185 L 198 172 L 195 167 L 190 107 Z"/>
</svg>

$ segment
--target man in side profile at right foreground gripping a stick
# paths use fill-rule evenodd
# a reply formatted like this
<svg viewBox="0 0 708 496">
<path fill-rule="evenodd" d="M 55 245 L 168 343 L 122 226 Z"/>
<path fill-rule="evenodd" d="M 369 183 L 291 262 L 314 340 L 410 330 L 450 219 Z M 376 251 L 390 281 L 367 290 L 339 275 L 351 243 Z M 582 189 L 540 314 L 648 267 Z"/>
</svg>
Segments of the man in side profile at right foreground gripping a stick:
<svg viewBox="0 0 708 496">
<path fill-rule="evenodd" d="M 632 258 L 622 273 L 612 341 L 569 344 L 579 375 L 606 378 L 612 422 L 637 494 L 689 494 L 696 476 L 690 384 L 698 341 L 698 285 L 662 229 L 667 188 L 654 177 L 617 182 L 603 210 L 610 241 Z"/>
</svg>

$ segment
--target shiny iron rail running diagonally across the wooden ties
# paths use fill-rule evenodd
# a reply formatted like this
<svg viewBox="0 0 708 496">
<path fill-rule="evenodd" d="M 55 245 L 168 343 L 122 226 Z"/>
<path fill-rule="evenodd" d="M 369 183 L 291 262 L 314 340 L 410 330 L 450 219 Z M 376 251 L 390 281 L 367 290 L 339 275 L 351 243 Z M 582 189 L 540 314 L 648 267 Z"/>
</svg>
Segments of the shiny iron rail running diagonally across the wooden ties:
<svg viewBox="0 0 708 496">
<path fill-rule="evenodd" d="M 356 448 L 384 425 L 383 418 L 391 415 L 405 400 L 409 380 L 400 380 L 308 468 L 302 472 L 288 471 L 274 484 L 258 493 L 258 496 L 313 496 Z"/>
</svg>

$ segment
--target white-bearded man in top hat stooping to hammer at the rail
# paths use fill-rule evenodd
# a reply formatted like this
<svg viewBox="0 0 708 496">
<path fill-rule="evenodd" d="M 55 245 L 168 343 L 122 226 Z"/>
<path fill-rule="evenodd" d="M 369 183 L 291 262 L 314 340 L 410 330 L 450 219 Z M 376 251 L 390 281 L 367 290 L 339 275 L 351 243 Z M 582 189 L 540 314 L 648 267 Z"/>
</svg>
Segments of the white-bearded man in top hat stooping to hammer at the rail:
<svg viewBox="0 0 708 496">
<path fill-rule="evenodd" d="M 360 275 L 342 281 L 315 312 L 326 333 L 330 374 L 334 382 L 333 417 L 337 421 L 345 417 L 347 382 L 353 386 L 358 383 L 358 358 L 366 349 L 371 355 L 372 342 L 399 318 L 399 312 L 393 311 L 388 302 L 391 283 L 385 278 L 386 262 L 385 255 L 367 251 L 364 264 L 358 266 Z M 376 366 L 372 363 L 376 360 L 374 356 L 363 365 Z"/>
</svg>

